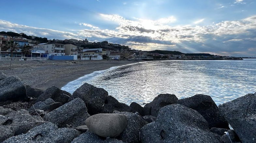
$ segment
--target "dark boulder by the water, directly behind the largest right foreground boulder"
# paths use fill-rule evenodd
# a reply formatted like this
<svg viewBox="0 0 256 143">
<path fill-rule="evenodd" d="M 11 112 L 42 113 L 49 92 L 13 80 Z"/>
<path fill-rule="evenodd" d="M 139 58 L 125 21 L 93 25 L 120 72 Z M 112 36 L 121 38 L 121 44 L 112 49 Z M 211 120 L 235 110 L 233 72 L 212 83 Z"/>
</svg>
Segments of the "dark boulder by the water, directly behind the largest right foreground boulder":
<svg viewBox="0 0 256 143">
<path fill-rule="evenodd" d="M 226 128 L 229 129 L 228 122 L 224 116 L 219 113 L 218 106 L 208 95 L 197 94 L 192 97 L 180 99 L 178 104 L 196 110 L 208 122 L 209 128 Z"/>
</svg>

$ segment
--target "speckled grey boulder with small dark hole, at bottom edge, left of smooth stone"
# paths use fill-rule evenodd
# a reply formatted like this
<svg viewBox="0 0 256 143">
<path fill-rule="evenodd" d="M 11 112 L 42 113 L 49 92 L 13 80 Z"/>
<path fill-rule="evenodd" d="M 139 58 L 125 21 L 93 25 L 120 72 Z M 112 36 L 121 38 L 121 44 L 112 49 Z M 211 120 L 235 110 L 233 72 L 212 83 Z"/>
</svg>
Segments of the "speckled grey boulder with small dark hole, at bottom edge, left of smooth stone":
<svg viewBox="0 0 256 143">
<path fill-rule="evenodd" d="M 3 143 L 70 143 L 79 136 L 73 128 L 58 128 L 51 122 L 38 125 L 26 134 L 10 137 Z"/>
</svg>

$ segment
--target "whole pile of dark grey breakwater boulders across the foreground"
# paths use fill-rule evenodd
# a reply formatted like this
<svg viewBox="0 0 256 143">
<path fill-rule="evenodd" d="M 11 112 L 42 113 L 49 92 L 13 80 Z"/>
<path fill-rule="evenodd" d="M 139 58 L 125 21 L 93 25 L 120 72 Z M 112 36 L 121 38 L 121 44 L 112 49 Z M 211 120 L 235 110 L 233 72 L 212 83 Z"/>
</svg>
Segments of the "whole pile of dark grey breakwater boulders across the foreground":
<svg viewBox="0 0 256 143">
<path fill-rule="evenodd" d="M 71 95 L 0 74 L 3 143 L 256 143 L 255 115 L 256 93 L 219 107 L 203 94 L 128 106 L 87 83 Z"/>
</svg>

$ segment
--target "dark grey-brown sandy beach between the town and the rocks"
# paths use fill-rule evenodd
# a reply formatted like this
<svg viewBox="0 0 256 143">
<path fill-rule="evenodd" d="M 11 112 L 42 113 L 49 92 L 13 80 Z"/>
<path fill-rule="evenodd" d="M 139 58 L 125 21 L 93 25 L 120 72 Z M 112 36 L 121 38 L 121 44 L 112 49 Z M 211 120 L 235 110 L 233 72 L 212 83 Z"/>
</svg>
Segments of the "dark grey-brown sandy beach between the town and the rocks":
<svg viewBox="0 0 256 143">
<path fill-rule="evenodd" d="M 7 76 L 20 77 L 25 84 L 31 87 L 47 89 L 51 86 L 61 88 L 68 82 L 94 71 L 132 63 L 136 62 L 115 60 L 0 61 L 0 72 Z"/>
</svg>

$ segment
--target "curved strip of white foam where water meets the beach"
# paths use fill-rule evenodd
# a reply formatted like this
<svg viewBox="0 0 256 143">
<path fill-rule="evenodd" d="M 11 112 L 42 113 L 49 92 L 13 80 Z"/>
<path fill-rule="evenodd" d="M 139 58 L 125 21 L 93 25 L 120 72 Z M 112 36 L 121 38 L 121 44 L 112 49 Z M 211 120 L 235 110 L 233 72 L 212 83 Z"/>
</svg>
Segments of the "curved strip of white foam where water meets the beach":
<svg viewBox="0 0 256 143">
<path fill-rule="evenodd" d="M 148 62 L 148 61 L 147 61 Z M 138 62 L 138 63 L 145 63 L 145 62 Z M 132 64 L 128 64 L 128 65 L 134 65 L 134 64 L 138 64 L 138 63 L 132 63 Z M 123 66 L 128 66 L 128 65 L 123 65 Z M 80 86 L 82 86 L 84 83 L 86 83 L 87 81 L 89 81 L 90 79 L 92 79 L 93 77 L 95 76 L 98 76 L 100 74 L 103 74 L 105 73 L 106 71 L 109 71 L 109 70 L 113 70 L 113 69 L 116 69 L 118 67 L 121 67 L 121 66 L 113 66 L 109 69 L 106 69 L 106 70 L 99 70 L 99 71 L 95 71 L 93 73 L 90 73 L 88 75 L 84 75 L 83 77 L 79 77 L 78 79 L 76 80 L 73 80 L 73 81 L 70 81 L 68 82 L 68 84 L 66 84 L 65 86 L 63 86 L 61 88 L 61 90 L 65 90 L 71 94 L 73 94 L 73 92 L 78 89 Z"/>
</svg>

